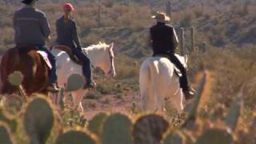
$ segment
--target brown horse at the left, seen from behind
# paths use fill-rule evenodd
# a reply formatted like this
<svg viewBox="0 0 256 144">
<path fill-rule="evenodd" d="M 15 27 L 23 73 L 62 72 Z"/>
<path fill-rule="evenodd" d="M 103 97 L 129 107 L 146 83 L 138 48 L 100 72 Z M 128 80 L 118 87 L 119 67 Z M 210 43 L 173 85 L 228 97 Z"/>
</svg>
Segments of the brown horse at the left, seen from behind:
<svg viewBox="0 0 256 144">
<path fill-rule="evenodd" d="M 49 68 L 34 46 L 15 47 L 2 56 L 0 74 L 2 79 L 1 94 L 18 92 L 17 86 L 11 86 L 8 76 L 14 71 L 23 75 L 22 90 L 26 96 L 33 93 L 47 94 Z"/>
</svg>

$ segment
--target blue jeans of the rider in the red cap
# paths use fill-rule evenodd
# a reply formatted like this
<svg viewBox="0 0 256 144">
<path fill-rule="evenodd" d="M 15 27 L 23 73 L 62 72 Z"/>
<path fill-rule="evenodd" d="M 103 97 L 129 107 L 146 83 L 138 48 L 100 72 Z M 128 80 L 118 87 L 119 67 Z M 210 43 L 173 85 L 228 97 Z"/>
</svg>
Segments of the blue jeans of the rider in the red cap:
<svg viewBox="0 0 256 144">
<path fill-rule="evenodd" d="M 78 48 L 71 48 L 71 50 L 72 50 L 72 53 L 80 61 L 82 61 L 82 74 L 84 77 L 86 77 L 86 81 L 90 83 L 92 81 L 90 59 L 87 57 L 86 54 L 82 53 L 82 50 L 79 50 Z"/>
</svg>

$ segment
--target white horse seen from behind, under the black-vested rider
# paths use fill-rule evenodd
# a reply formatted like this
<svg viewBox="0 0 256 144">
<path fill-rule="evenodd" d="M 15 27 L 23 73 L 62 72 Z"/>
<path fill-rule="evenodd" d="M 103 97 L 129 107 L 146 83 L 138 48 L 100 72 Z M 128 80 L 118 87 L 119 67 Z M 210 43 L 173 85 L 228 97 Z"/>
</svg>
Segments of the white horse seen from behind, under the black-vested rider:
<svg viewBox="0 0 256 144">
<path fill-rule="evenodd" d="M 175 54 L 182 65 L 186 66 L 187 56 Z M 179 84 L 179 77 L 175 74 L 176 67 L 167 58 L 150 57 L 142 63 L 139 74 L 139 85 L 142 98 L 142 110 L 155 112 L 165 111 L 166 106 L 177 110 L 184 109 L 185 98 Z"/>
</svg>

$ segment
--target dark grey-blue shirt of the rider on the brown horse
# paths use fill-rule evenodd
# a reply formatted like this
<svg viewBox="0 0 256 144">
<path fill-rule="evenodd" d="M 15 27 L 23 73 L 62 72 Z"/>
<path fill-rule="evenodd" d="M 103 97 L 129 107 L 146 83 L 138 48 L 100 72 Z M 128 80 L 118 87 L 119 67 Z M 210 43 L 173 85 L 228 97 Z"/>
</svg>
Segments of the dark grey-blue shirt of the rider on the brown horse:
<svg viewBox="0 0 256 144">
<path fill-rule="evenodd" d="M 17 45 L 45 45 L 50 35 L 46 15 L 32 6 L 25 6 L 14 13 L 14 41 Z"/>
</svg>

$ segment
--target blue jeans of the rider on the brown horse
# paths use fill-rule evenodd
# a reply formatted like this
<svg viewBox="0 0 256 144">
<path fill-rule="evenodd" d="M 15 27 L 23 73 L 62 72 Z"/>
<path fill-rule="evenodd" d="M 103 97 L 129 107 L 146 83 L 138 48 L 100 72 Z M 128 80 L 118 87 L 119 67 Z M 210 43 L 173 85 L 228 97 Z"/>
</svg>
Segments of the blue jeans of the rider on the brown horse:
<svg viewBox="0 0 256 144">
<path fill-rule="evenodd" d="M 50 50 L 46 48 L 46 46 L 42 45 L 34 45 L 38 48 L 38 50 L 42 50 L 46 52 L 48 55 L 50 64 L 52 66 L 52 69 L 49 70 L 49 79 L 50 79 L 50 84 L 56 83 L 57 82 L 57 74 L 56 74 L 56 59 L 54 57 L 54 54 L 51 54 Z"/>
</svg>

